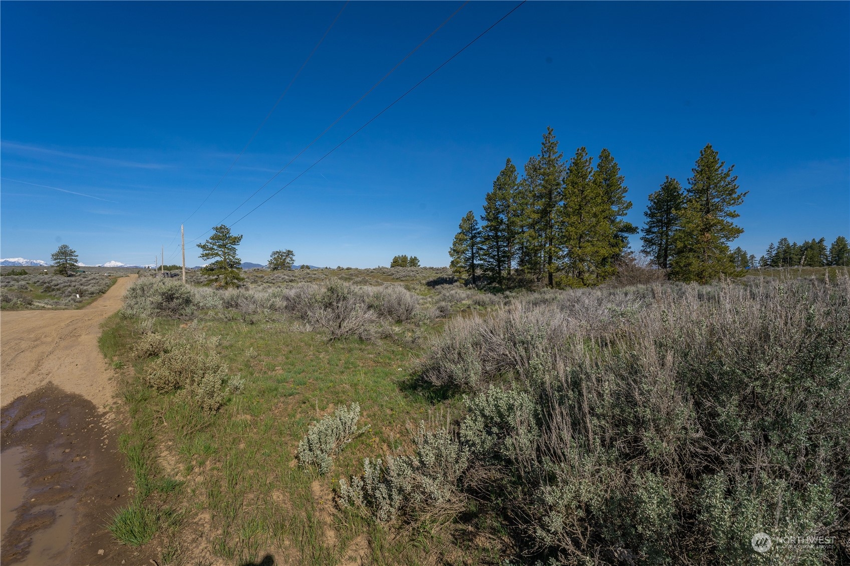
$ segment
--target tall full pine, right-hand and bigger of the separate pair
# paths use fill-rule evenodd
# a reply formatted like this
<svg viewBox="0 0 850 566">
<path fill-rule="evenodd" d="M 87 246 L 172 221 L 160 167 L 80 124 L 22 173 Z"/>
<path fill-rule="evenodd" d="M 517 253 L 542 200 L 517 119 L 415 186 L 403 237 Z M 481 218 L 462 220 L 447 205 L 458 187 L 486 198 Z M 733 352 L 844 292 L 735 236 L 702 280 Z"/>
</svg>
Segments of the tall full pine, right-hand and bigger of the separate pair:
<svg viewBox="0 0 850 566">
<path fill-rule="evenodd" d="M 673 239 L 673 279 L 707 283 L 735 273 L 728 242 L 744 231 L 732 219 L 740 216 L 734 207 L 740 206 L 747 193 L 738 192 L 734 165 L 724 169 L 725 165 L 711 144 L 700 151 L 692 170 L 694 176 L 688 179 L 690 186 L 680 212 L 681 229 Z"/>
</svg>

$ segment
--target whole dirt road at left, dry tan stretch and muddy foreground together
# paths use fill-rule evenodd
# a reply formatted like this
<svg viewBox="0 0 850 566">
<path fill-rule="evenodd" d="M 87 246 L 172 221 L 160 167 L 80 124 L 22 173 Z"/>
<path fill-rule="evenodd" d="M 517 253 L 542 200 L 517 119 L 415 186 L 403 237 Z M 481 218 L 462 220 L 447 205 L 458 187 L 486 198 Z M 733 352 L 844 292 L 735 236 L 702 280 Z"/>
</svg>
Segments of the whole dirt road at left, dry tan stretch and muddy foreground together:
<svg viewBox="0 0 850 566">
<path fill-rule="evenodd" d="M 115 385 L 99 325 L 136 279 L 122 277 L 87 308 L 0 315 L 3 564 L 147 564 L 105 528 L 132 492 L 117 450 Z"/>
</svg>

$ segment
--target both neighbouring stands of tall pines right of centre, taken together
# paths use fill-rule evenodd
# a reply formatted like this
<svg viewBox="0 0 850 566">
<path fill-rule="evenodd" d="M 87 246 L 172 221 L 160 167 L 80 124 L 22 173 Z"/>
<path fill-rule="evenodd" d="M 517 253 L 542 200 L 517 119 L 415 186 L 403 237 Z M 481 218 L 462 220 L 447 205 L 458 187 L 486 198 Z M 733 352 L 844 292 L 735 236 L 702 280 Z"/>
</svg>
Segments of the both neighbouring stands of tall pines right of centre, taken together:
<svg viewBox="0 0 850 566">
<path fill-rule="evenodd" d="M 549 127 L 523 178 L 507 160 L 485 196 L 483 224 L 472 211 L 462 219 L 451 268 L 473 285 L 483 278 L 500 287 L 594 286 L 615 275 L 628 235 L 638 228 L 623 219 L 632 202 L 614 157 L 604 149 L 595 168 L 592 160 L 580 147 L 564 161 Z M 672 279 L 705 283 L 755 260 L 728 247 L 743 232 L 732 219 L 746 195 L 738 192 L 733 168 L 707 144 L 686 190 L 667 177 L 649 195 L 642 251 Z"/>
</svg>

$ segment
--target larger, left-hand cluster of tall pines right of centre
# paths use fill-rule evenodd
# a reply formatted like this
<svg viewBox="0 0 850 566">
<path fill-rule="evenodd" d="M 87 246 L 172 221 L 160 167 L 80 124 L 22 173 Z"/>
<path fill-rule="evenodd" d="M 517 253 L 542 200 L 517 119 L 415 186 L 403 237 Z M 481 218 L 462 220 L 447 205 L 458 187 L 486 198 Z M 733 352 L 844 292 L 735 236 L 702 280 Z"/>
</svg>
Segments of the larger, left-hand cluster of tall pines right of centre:
<svg viewBox="0 0 850 566">
<path fill-rule="evenodd" d="M 615 260 L 637 228 L 622 220 L 632 203 L 609 150 L 596 168 L 587 149 L 569 162 L 551 127 L 541 152 L 519 178 L 510 159 L 484 197 L 483 224 L 472 211 L 462 219 L 449 254 L 451 268 L 473 285 L 529 280 L 547 286 L 592 286 L 616 273 Z"/>
</svg>

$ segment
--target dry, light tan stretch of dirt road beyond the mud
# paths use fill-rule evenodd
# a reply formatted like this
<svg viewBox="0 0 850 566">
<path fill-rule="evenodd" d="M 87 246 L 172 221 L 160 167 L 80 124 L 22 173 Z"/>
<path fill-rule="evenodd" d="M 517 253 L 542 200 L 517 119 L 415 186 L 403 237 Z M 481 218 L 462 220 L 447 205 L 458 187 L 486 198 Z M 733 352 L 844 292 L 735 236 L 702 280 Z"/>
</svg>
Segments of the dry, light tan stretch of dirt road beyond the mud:
<svg viewBox="0 0 850 566">
<path fill-rule="evenodd" d="M 121 308 L 138 275 L 121 277 L 80 310 L 19 310 L 0 314 L 0 405 L 53 382 L 103 409 L 112 399 L 111 371 L 98 349 L 100 323 Z"/>
</svg>

